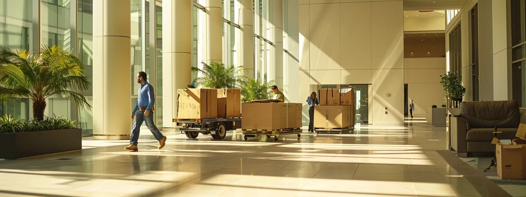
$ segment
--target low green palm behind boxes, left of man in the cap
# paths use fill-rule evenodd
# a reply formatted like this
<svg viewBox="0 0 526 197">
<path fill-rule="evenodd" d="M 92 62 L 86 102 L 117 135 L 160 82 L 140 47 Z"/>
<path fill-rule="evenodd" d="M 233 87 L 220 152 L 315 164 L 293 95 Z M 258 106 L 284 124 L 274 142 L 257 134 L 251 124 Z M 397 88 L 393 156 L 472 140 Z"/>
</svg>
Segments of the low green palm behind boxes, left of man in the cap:
<svg viewBox="0 0 526 197">
<path fill-rule="evenodd" d="M 270 99 L 274 92 L 270 87 L 274 85 L 274 81 L 261 81 L 261 79 L 249 79 L 246 85 L 241 88 L 241 102 L 250 102 L 251 100 Z"/>
</svg>

